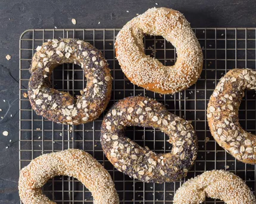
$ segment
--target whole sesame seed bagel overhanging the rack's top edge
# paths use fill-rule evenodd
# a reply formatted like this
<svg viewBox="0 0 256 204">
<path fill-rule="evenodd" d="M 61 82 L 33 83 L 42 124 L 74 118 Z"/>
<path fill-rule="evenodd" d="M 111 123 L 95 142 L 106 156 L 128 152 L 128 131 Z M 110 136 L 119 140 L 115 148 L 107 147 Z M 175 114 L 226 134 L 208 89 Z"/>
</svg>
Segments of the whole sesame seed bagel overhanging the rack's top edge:
<svg viewBox="0 0 256 204">
<path fill-rule="evenodd" d="M 173 66 L 164 66 L 145 55 L 144 34 L 163 36 L 177 51 Z M 179 11 L 151 8 L 133 18 L 115 41 L 118 62 L 133 84 L 161 94 L 173 94 L 195 84 L 202 71 L 201 46 L 191 26 Z"/>
</svg>

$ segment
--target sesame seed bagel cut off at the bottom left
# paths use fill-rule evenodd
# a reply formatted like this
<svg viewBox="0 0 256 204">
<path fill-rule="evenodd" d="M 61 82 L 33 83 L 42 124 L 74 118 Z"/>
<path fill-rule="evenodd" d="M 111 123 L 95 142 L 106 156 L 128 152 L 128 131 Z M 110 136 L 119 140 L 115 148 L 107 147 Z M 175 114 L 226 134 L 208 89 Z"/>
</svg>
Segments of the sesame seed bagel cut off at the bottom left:
<svg viewBox="0 0 256 204">
<path fill-rule="evenodd" d="M 93 203 L 118 204 L 114 182 L 104 167 L 80 149 L 43 154 L 20 171 L 18 191 L 24 204 L 55 203 L 42 194 L 41 187 L 54 176 L 73 176 L 90 190 Z"/>
</svg>

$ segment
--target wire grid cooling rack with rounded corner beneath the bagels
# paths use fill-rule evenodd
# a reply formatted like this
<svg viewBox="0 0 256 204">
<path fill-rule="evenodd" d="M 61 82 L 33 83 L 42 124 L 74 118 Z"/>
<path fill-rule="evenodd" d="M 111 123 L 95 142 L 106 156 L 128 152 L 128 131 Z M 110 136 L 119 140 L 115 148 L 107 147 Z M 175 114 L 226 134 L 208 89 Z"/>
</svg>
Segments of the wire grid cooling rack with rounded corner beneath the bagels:
<svg viewBox="0 0 256 204">
<path fill-rule="evenodd" d="M 229 69 L 256 69 L 256 28 L 194 28 L 204 53 L 204 69 L 195 85 L 174 95 L 161 95 L 133 85 L 123 74 L 115 59 L 114 43 L 118 29 L 44 29 L 27 30 L 20 37 L 20 168 L 41 154 L 80 148 L 101 162 L 113 177 L 120 203 L 173 203 L 176 190 L 188 178 L 207 170 L 224 169 L 246 181 L 252 192 L 256 190 L 256 166 L 243 164 L 227 154 L 214 141 L 206 119 L 207 103 L 218 80 Z M 99 141 L 104 114 L 85 125 L 60 125 L 37 116 L 32 110 L 27 93 L 29 66 L 36 47 L 52 38 L 83 39 L 102 51 L 108 60 L 114 78 L 110 104 L 130 95 L 147 95 L 163 103 L 169 111 L 191 120 L 199 140 L 198 158 L 188 177 L 173 183 L 154 184 L 133 180 L 115 170 L 105 158 Z M 173 65 L 176 50 L 159 36 L 145 36 L 145 53 L 159 59 L 164 65 Z M 86 86 L 86 78 L 79 66 L 58 66 L 52 75 L 52 87 L 79 95 Z M 255 91 L 246 91 L 239 117 L 241 125 L 255 133 Z M 167 136 L 160 130 L 129 127 L 126 135 L 155 152 L 170 152 Z M 43 187 L 43 192 L 57 203 L 92 203 L 92 195 L 82 183 L 70 177 L 54 177 Z M 223 203 L 207 199 L 205 203 Z"/>
</svg>

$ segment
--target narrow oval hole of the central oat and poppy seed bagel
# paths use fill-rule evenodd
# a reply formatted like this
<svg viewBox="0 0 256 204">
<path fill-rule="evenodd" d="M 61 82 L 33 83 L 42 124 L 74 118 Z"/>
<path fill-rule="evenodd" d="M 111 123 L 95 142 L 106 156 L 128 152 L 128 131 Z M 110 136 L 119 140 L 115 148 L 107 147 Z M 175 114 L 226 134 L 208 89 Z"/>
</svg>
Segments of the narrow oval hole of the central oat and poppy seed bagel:
<svg viewBox="0 0 256 204">
<path fill-rule="evenodd" d="M 131 126 L 125 130 L 125 136 L 132 139 L 140 146 L 148 146 L 151 151 L 155 153 L 168 153 L 171 152 L 172 145 L 167 142 L 169 136 L 161 132 L 161 130 L 151 127 L 138 127 Z"/>
</svg>

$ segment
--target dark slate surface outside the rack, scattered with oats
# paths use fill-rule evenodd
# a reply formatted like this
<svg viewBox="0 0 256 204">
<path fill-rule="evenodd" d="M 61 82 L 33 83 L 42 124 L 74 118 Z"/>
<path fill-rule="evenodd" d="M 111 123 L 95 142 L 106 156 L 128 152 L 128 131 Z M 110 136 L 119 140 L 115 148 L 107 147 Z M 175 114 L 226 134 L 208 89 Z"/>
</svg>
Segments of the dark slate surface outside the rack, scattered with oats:
<svg viewBox="0 0 256 204">
<path fill-rule="evenodd" d="M 18 203 L 18 39 L 29 28 L 121 28 L 146 9 L 170 7 L 192 27 L 256 27 L 254 0 L 0 1 L 0 203 Z M 127 12 L 129 11 L 129 12 Z M 73 25 L 71 19 L 76 18 Z M 98 24 L 98 22 L 101 24 Z M 5 59 L 9 54 L 11 60 Z M 5 100 L 5 102 L 4 102 Z M 12 115 L 12 117 L 11 117 Z M 2 132 L 7 130 L 8 136 Z M 11 141 L 10 141 L 11 140 Z M 8 146 L 8 148 L 6 148 Z"/>
</svg>

